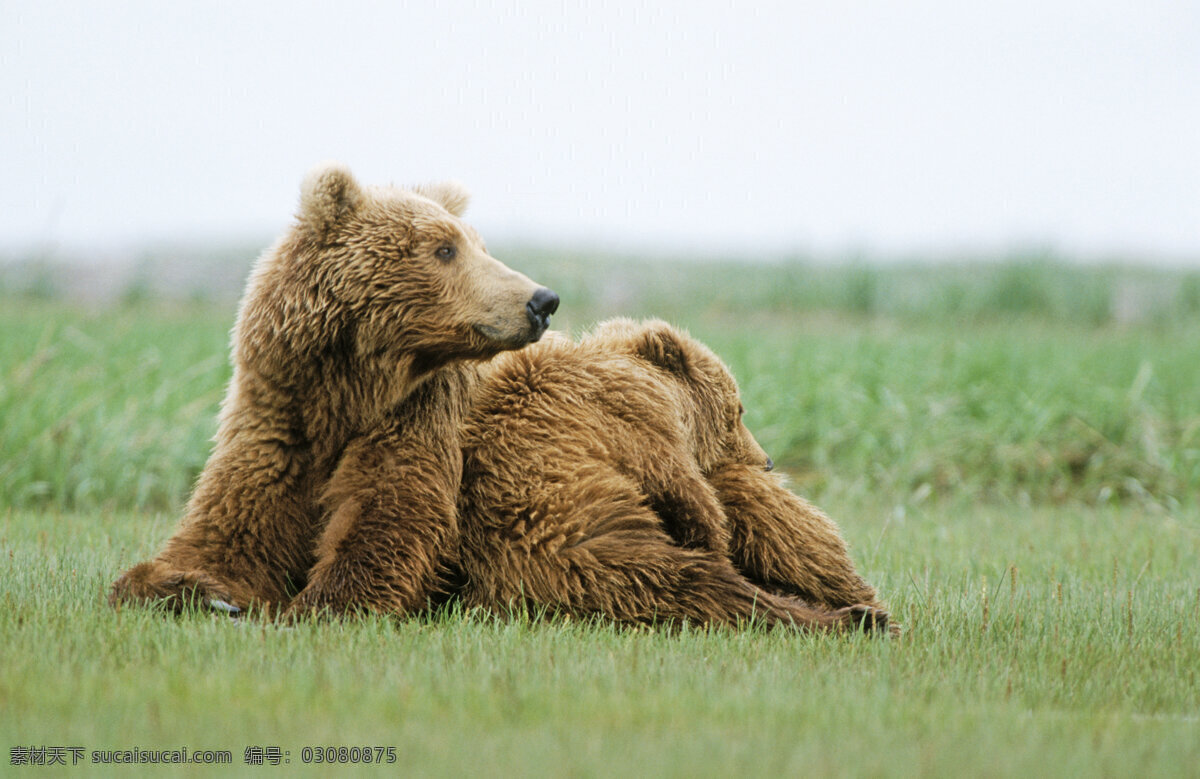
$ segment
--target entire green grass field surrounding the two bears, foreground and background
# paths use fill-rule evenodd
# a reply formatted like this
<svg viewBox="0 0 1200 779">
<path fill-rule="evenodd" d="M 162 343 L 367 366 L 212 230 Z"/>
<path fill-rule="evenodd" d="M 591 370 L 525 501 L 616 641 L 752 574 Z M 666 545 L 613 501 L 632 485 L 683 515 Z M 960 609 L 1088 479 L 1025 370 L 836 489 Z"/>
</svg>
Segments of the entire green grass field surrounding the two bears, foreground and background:
<svg viewBox="0 0 1200 779">
<path fill-rule="evenodd" d="M 558 326 L 658 313 L 722 354 L 905 635 L 110 610 L 203 466 L 234 302 L 10 284 L 0 743 L 230 750 L 216 775 L 275 771 L 251 745 L 290 769 L 394 747 L 419 775 L 1198 772 L 1195 275 L 514 264 L 563 294 Z"/>
</svg>

